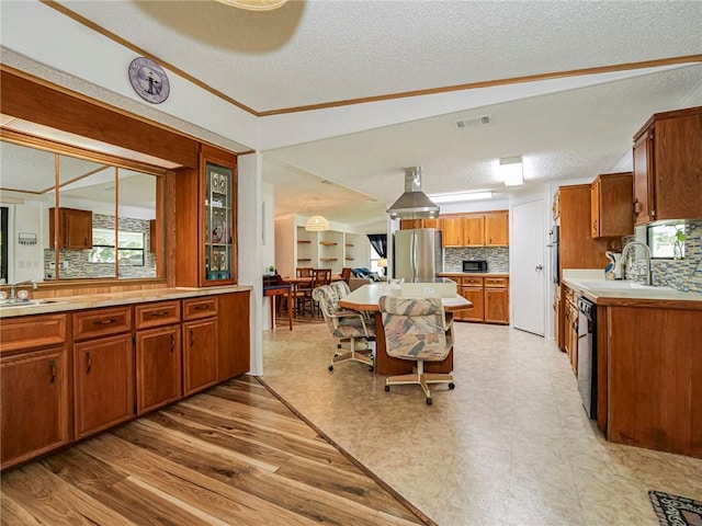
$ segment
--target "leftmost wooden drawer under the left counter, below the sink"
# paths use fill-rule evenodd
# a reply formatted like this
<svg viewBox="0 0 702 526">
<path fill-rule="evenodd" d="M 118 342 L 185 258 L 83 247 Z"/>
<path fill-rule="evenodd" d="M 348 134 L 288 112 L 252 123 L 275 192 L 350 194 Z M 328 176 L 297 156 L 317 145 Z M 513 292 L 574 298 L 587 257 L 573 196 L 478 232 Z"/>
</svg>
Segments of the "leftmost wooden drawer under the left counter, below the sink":
<svg viewBox="0 0 702 526">
<path fill-rule="evenodd" d="M 66 342 L 66 315 L 4 318 L 0 323 L 2 354 Z"/>
</svg>

